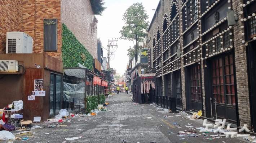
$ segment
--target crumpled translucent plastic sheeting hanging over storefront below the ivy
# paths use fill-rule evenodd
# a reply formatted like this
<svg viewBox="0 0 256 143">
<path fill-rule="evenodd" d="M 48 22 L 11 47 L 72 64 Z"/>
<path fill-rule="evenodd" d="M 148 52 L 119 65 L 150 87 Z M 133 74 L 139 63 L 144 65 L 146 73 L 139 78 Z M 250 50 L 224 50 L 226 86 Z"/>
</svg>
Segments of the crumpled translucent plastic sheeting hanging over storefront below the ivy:
<svg viewBox="0 0 256 143">
<path fill-rule="evenodd" d="M 84 99 L 85 83 L 68 84 L 63 82 L 63 100 L 67 102 L 74 102 L 74 105 L 84 105 L 80 103 Z"/>
</svg>

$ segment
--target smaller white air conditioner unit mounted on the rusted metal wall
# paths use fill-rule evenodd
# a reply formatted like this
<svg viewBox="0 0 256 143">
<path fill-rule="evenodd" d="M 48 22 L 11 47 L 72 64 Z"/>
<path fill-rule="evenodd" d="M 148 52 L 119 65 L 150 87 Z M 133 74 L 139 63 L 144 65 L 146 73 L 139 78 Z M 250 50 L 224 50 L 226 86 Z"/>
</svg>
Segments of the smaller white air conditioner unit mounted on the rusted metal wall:
<svg viewBox="0 0 256 143">
<path fill-rule="evenodd" d="M 18 72 L 18 61 L 14 60 L 0 60 L 0 72 Z"/>
</svg>

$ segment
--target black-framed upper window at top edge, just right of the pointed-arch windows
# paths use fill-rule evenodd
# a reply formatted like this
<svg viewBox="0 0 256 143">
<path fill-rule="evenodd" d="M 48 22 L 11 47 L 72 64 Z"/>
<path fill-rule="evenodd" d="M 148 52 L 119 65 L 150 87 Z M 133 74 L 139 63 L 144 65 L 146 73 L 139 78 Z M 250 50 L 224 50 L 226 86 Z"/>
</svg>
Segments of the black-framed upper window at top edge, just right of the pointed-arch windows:
<svg viewBox="0 0 256 143">
<path fill-rule="evenodd" d="M 187 13 L 187 27 L 189 27 L 198 18 L 198 0 L 187 1 L 186 13 Z"/>
</svg>

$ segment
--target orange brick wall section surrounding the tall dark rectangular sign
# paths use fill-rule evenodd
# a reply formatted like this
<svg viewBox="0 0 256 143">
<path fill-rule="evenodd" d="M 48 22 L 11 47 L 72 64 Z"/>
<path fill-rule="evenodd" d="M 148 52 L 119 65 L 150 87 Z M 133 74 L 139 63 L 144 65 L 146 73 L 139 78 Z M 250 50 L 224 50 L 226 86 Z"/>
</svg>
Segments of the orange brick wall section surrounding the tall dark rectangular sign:
<svg viewBox="0 0 256 143">
<path fill-rule="evenodd" d="M 61 60 L 61 0 L 23 0 L 22 31 L 33 37 L 33 53 Z M 44 51 L 44 19 L 57 18 L 57 51 Z"/>
</svg>

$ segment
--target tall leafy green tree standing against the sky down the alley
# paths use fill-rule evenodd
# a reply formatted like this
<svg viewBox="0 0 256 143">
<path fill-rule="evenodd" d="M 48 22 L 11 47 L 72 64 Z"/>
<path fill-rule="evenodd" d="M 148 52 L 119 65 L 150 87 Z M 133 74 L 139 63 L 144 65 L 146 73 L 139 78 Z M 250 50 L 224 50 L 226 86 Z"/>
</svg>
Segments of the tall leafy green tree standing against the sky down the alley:
<svg viewBox="0 0 256 143">
<path fill-rule="evenodd" d="M 142 42 L 146 36 L 146 30 L 149 28 L 149 21 L 146 21 L 149 16 L 145 13 L 142 3 L 132 4 L 124 13 L 123 20 L 125 21 L 125 26 L 120 30 L 120 39 L 133 41 L 135 44 L 133 48 L 129 48 L 127 51 L 131 57 L 134 55 L 135 61 L 137 62 L 138 57 L 138 46 L 139 42 Z"/>
</svg>

